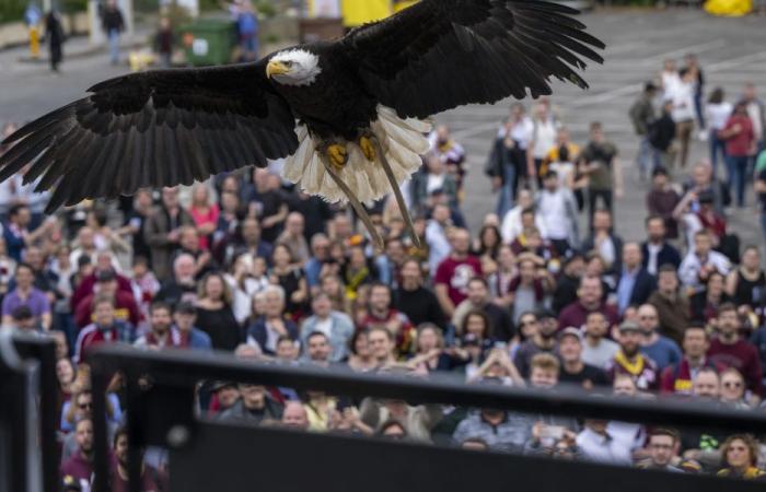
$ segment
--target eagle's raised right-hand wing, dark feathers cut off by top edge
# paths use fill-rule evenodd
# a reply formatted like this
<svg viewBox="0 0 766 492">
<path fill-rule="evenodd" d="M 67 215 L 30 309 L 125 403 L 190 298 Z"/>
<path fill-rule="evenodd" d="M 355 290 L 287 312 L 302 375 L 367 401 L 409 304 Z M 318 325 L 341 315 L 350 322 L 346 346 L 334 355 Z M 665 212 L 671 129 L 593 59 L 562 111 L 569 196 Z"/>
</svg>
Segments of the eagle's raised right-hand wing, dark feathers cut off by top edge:
<svg viewBox="0 0 766 492">
<path fill-rule="evenodd" d="M 574 69 L 602 62 L 578 11 L 537 0 L 422 0 L 335 44 L 367 89 L 399 116 L 549 94 L 550 77 L 587 87 Z M 591 47 L 589 47 L 589 45 Z"/>
</svg>

